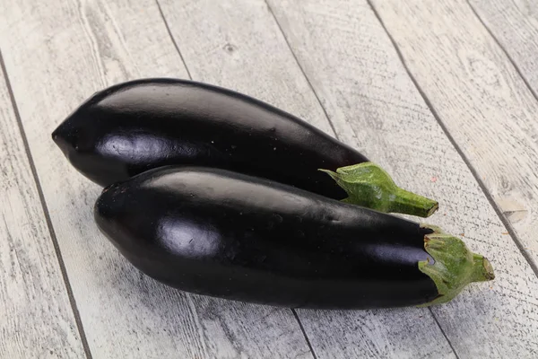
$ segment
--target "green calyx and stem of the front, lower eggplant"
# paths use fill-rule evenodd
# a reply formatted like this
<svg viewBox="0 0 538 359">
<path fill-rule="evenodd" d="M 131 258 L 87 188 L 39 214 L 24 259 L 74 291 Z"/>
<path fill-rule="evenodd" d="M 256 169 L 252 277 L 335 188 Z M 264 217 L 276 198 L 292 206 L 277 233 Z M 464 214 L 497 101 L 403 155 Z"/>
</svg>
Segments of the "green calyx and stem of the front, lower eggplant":
<svg viewBox="0 0 538 359">
<path fill-rule="evenodd" d="M 438 297 L 420 307 L 450 302 L 465 285 L 495 278 L 490 261 L 469 250 L 464 241 L 436 226 L 423 227 L 434 231 L 424 236 L 424 249 L 434 262 L 431 263 L 430 258 L 420 261 L 419 269 L 433 280 L 438 288 Z"/>
</svg>

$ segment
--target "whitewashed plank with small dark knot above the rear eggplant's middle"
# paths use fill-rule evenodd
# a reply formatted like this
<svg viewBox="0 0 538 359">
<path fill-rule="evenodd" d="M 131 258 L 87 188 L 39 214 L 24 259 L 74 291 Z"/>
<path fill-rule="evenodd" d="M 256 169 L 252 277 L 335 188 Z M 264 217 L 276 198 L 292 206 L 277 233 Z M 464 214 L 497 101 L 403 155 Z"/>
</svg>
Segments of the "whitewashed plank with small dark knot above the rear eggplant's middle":
<svg viewBox="0 0 538 359">
<path fill-rule="evenodd" d="M 195 80 L 255 96 L 333 134 L 323 109 L 263 1 L 161 0 L 160 3 Z M 300 21 L 300 17 L 294 17 L 293 21 Z M 385 34 L 382 29 L 377 29 L 371 36 L 384 37 Z M 348 143 L 362 148 L 364 142 L 345 137 L 346 130 L 360 132 L 359 126 L 353 122 L 335 126 L 339 126 Z M 379 124 L 375 122 L 366 125 L 377 126 Z M 374 128 L 369 130 L 375 132 Z M 373 147 L 385 145 L 381 142 L 370 144 Z M 417 141 L 415 145 L 421 144 Z M 379 155 L 375 157 L 386 160 Z M 383 161 L 382 164 L 388 163 Z M 430 180 L 429 173 L 421 176 L 424 182 Z M 417 183 L 414 187 L 422 190 Z M 426 309 L 298 311 L 298 314 L 319 359 L 455 357 Z"/>
</svg>

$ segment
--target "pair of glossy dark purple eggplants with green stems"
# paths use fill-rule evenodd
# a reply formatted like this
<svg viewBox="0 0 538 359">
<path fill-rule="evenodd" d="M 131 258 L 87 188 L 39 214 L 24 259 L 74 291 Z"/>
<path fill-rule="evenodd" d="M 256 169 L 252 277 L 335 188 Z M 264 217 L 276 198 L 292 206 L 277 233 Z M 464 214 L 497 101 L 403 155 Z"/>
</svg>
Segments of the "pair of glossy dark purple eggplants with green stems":
<svg viewBox="0 0 538 359">
<path fill-rule="evenodd" d="M 237 92 L 122 83 L 93 95 L 53 138 L 106 186 L 94 207 L 100 231 L 134 267 L 184 291 L 366 309 L 448 302 L 494 277 L 460 239 L 383 213 L 428 216 L 437 202 Z"/>
</svg>

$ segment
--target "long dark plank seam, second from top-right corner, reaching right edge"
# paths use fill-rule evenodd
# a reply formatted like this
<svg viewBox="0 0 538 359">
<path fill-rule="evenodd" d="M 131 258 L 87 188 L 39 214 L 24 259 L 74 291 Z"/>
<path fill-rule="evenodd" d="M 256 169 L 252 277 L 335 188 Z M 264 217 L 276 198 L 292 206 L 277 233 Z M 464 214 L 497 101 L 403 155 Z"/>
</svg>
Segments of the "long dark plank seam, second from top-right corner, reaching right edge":
<svg viewBox="0 0 538 359">
<path fill-rule="evenodd" d="M 484 184 L 482 178 L 478 175 L 478 172 L 476 171 L 476 169 L 474 168 L 473 164 L 469 161 L 469 159 L 467 158 L 467 156 L 464 154 L 463 150 L 461 149 L 461 147 L 459 146 L 459 144 L 457 144 L 456 142 L 456 139 L 454 138 L 454 136 L 452 136 L 450 134 L 450 132 L 448 131 L 448 128 L 445 126 L 445 124 L 443 123 L 443 121 L 441 120 L 441 118 L 439 117 L 438 115 L 438 112 L 437 110 L 434 108 L 433 104 L 431 103 L 430 99 L 427 97 L 426 93 L 422 90 L 420 84 L 417 82 L 417 80 L 415 79 L 414 75 L 411 73 L 411 71 L 409 70 L 409 67 L 407 66 L 407 63 L 405 62 L 405 59 L 404 59 L 404 56 L 402 54 L 402 51 L 400 50 L 400 48 L 398 48 L 396 42 L 395 42 L 395 39 L 393 38 L 393 36 L 390 34 L 390 32 L 386 29 L 386 25 L 385 23 L 381 20 L 381 17 L 379 16 L 379 14 L 377 13 L 377 10 L 376 8 L 374 7 L 374 5 L 371 3 L 371 0 L 366 0 L 367 3 L 369 4 L 369 6 L 371 7 L 372 11 L 376 14 L 376 17 L 377 17 L 377 20 L 381 23 L 381 26 L 383 27 L 383 29 L 386 31 L 386 35 L 388 36 L 388 38 L 390 39 L 390 41 L 392 42 L 394 48 L 395 48 L 395 51 L 398 55 L 398 57 L 400 58 L 400 61 L 402 62 L 402 65 L 404 66 L 404 69 L 405 69 L 405 72 L 409 75 L 409 77 L 411 78 L 412 80 L 412 83 L 414 84 L 414 86 L 416 87 L 417 91 L 421 94 L 421 97 L 422 99 L 424 100 L 424 102 L 426 103 L 426 105 L 428 106 L 428 108 L 430 109 L 431 111 L 431 114 L 433 115 L 433 117 L 437 120 L 439 126 L 443 129 L 443 132 L 445 133 L 445 135 L 447 136 L 448 140 L 450 141 L 450 143 L 454 146 L 454 148 L 456 149 L 456 152 L 460 155 L 460 157 L 463 159 L 465 165 L 469 168 L 469 170 L 471 171 L 471 173 L 473 173 L 473 177 L 474 177 L 474 180 L 477 181 L 479 187 L 482 189 L 482 192 L 484 194 L 484 196 L 488 199 L 488 201 L 490 202 L 490 205 L 491 207 L 493 207 L 493 210 L 495 211 L 495 213 L 499 216 L 499 219 L 501 221 L 501 223 L 503 223 L 506 228 L 507 228 L 507 231 L 508 231 L 508 234 L 510 235 L 510 237 L 512 238 L 512 241 L 514 241 L 514 243 L 516 243 L 516 247 L 517 249 L 521 252 L 521 254 L 523 255 L 523 257 L 525 258 L 526 262 L 528 263 L 528 265 L 531 267 L 531 269 L 533 270 L 534 272 L 534 275 L 535 276 L 538 276 L 538 267 L 534 264 L 534 261 L 533 259 L 530 257 L 530 255 L 528 254 L 528 252 L 525 250 L 525 245 L 519 240 L 519 238 L 517 237 L 516 235 L 516 232 L 514 230 L 514 228 L 512 227 L 512 224 L 508 221 L 508 218 L 503 215 L 500 207 L 497 205 L 497 203 L 495 202 L 495 200 L 493 199 L 493 197 L 491 196 L 490 194 L 490 191 L 486 188 L 486 185 Z M 482 20 L 481 20 L 482 22 Z"/>
</svg>

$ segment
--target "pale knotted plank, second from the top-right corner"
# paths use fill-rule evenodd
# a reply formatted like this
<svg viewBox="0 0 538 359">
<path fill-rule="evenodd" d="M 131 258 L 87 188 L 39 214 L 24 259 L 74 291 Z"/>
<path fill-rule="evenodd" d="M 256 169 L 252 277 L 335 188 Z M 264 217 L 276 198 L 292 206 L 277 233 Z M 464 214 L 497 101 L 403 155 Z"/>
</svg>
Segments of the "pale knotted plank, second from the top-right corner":
<svg viewBox="0 0 538 359">
<path fill-rule="evenodd" d="M 538 266 L 538 101 L 464 0 L 376 4 L 439 117 Z M 532 45 L 529 51 L 535 60 Z"/>
</svg>

